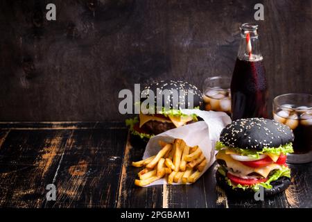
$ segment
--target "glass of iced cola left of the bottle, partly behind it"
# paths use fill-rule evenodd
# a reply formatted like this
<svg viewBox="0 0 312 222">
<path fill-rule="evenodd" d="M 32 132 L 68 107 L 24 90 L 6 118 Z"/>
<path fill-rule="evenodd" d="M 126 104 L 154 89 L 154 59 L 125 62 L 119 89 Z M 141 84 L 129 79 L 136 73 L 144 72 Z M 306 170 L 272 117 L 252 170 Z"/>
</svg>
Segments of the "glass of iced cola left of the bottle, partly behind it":
<svg viewBox="0 0 312 222">
<path fill-rule="evenodd" d="M 213 76 L 205 80 L 204 93 L 205 110 L 222 111 L 231 116 L 231 78 L 227 76 Z"/>
</svg>

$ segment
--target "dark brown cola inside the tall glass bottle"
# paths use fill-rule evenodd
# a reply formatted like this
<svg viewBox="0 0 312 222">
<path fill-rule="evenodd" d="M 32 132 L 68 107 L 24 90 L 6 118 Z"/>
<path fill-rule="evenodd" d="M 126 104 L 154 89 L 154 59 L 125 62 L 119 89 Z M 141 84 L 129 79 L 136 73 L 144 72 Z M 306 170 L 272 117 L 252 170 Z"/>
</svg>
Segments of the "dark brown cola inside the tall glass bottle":
<svg viewBox="0 0 312 222">
<path fill-rule="evenodd" d="M 232 120 L 268 118 L 266 71 L 262 60 L 236 59 L 231 82 Z"/>
</svg>

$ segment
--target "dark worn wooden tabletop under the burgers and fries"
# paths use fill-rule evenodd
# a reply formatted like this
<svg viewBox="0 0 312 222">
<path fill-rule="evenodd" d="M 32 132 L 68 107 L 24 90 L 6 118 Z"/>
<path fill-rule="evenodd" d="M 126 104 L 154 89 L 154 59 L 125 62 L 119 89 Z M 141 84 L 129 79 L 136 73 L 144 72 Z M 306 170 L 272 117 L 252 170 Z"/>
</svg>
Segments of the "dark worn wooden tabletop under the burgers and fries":
<svg viewBox="0 0 312 222">
<path fill-rule="evenodd" d="M 121 122 L 0 123 L 0 207 L 312 207 L 312 164 L 291 165 L 291 187 L 255 201 L 226 196 L 215 165 L 193 185 L 135 187 L 143 152 Z"/>
</svg>

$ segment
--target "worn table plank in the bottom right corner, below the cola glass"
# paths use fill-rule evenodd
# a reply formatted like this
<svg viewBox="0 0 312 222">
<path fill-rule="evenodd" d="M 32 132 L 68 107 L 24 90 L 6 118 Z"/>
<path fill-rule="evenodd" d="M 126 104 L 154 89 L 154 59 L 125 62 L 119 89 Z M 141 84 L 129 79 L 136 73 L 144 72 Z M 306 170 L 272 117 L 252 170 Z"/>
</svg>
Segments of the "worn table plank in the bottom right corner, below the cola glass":
<svg viewBox="0 0 312 222">
<path fill-rule="evenodd" d="M 312 163 L 290 164 L 291 186 L 286 190 L 289 207 L 312 207 Z"/>
</svg>

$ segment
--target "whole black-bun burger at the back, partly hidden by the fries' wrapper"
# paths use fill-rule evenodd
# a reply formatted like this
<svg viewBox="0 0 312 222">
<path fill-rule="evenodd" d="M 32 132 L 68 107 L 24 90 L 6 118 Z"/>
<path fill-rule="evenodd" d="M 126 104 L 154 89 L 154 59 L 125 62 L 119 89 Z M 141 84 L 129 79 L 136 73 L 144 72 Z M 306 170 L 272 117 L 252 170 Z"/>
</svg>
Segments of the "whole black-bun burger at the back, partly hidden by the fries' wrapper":
<svg viewBox="0 0 312 222">
<path fill-rule="evenodd" d="M 157 91 L 158 89 L 158 91 Z M 157 107 L 157 92 L 168 92 L 169 94 L 162 95 L 162 103 Z M 173 99 L 171 92 L 177 92 Z M 152 99 L 154 103 L 154 112 L 152 114 L 144 114 L 140 112 L 139 118 L 127 119 L 126 125 L 130 127 L 132 135 L 140 137 L 141 139 L 149 139 L 154 135 L 163 133 L 166 130 L 171 130 L 180 126 L 184 126 L 194 121 L 198 121 L 196 115 L 188 116 L 181 112 L 181 109 L 201 109 L 202 93 L 195 86 L 181 80 L 161 80 L 151 83 L 144 87 L 141 91 L 141 103 L 146 98 L 149 99 L 150 91 L 153 92 L 155 98 Z M 191 102 L 193 100 L 193 103 Z"/>
</svg>

